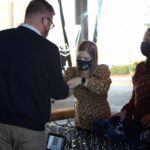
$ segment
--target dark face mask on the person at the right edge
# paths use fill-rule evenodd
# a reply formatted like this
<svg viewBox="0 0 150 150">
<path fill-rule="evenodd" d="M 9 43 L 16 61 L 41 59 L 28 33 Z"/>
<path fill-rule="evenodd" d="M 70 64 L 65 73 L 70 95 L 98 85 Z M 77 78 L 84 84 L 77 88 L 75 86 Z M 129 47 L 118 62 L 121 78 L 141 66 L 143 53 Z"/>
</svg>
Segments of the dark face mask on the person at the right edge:
<svg viewBox="0 0 150 150">
<path fill-rule="evenodd" d="M 141 43 L 141 52 L 144 56 L 150 57 L 150 42 Z"/>
</svg>

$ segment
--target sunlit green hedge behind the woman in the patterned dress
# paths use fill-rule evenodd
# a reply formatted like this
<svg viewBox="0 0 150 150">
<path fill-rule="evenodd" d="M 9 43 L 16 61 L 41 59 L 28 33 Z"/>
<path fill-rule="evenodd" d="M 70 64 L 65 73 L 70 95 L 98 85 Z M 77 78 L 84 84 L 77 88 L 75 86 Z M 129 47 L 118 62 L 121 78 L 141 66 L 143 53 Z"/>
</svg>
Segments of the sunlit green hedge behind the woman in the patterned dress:
<svg viewBox="0 0 150 150">
<path fill-rule="evenodd" d="M 127 75 L 135 71 L 138 62 L 129 65 L 112 66 L 110 68 L 111 75 Z"/>
</svg>

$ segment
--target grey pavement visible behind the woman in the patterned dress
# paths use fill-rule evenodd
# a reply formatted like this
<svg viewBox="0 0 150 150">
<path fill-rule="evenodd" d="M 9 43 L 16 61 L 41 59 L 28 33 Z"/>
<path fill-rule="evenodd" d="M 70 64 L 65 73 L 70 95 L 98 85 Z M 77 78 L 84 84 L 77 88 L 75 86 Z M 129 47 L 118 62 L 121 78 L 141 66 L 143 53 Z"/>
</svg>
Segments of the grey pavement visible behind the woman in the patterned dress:
<svg viewBox="0 0 150 150">
<path fill-rule="evenodd" d="M 110 103 L 111 111 L 118 112 L 131 97 L 131 76 L 113 76 L 111 79 L 112 84 L 108 93 L 108 101 Z M 74 103 L 75 98 L 73 96 L 68 97 L 65 100 L 55 101 L 55 103 L 52 104 L 52 110 L 74 107 Z"/>
</svg>

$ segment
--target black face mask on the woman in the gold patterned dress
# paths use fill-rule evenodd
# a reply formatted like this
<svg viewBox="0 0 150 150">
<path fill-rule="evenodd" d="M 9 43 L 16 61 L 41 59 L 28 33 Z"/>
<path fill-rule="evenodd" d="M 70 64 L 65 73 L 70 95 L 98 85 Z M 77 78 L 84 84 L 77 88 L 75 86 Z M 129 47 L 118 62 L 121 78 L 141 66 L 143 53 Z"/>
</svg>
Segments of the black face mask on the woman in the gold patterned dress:
<svg viewBox="0 0 150 150">
<path fill-rule="evenodd" d="M 82 71 L 85 71 L 91 68 L 91 60 L 85 61 L 85 60 L 77 59 L 77 63 L 78 63 L 79 69 Z"/>
</svg>

